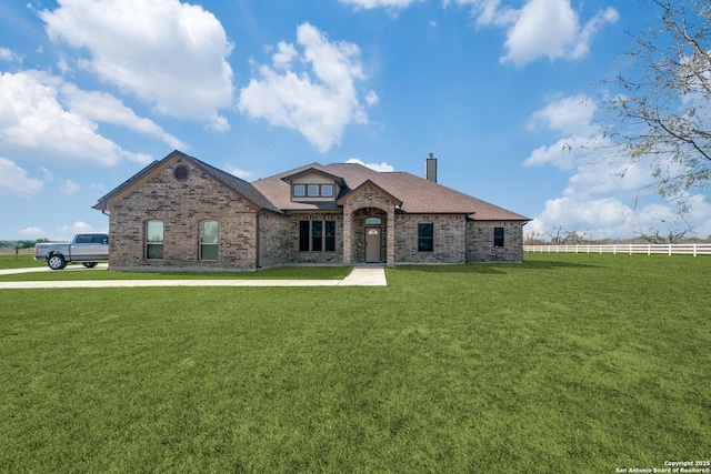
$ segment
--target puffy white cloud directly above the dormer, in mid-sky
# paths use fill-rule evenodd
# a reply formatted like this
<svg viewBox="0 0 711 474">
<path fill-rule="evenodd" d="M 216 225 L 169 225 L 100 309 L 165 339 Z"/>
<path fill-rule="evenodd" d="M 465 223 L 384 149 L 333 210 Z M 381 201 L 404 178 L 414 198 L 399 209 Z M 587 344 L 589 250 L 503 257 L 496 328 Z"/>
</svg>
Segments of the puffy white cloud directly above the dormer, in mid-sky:
<svg viewBox="0 0 711 474">
<path fill-rule="evenodd" d="M 297 43 L 302 52 L 303 71 L 286 70 L 283 74 L 262 65 L 260 79 L 251 79 L 240 92 L 239 109 L 270 124 L 298 130 L 321 152 L 338 144 L 350 123 L 367 123 L 359 101 L 356 81 L 364 74 L 359 61 L 360 49 L 349 42 L 331 42 L 317 28 L 302 23 L 297 29 Z M 280 43 L 272 58 L 274 68 L 292 64 L 296 47 Z M 367 101 L 377 98 L 369 93 Z"/>
</svg>

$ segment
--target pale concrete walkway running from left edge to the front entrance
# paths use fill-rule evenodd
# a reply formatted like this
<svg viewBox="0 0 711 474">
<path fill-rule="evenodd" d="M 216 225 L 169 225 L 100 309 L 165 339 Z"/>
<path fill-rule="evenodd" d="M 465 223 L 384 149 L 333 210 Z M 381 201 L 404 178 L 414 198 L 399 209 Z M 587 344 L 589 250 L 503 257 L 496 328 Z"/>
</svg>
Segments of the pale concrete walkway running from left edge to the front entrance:
<svg viewBox="0 0 711 474">
<path fill-rule="evenodd" d="M 106 269 L 106 264 L 97 269 Z M 82 270 L 82 266 L 66 270 Z M 83 269 L 84 271 L 94 271 Z M 0 270 L 0 275 L 50 271 L 48 268 Z M 84 280 L 0 282 L 0 290 L 47 288 L 137 288 L 137 286 L 387 286 L 385 271 L 377 266 L 354 268 L 343 280 Z"/>
</svg>

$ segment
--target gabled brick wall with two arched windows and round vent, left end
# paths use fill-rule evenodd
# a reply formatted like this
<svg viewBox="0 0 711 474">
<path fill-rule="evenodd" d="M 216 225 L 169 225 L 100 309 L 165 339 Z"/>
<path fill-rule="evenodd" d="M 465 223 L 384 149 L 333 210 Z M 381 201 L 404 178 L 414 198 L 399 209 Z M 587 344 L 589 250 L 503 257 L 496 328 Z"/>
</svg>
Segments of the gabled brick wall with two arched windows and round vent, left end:
<svg viewBox="0 0 711 474">
<path fill-rule="evenodd" d="M 257 213 L 237 193 L 189 164 L 187 180 L 168 167 L 111 209 L 112 270 L 254 269 Z M 163 221 L 163 259 L 147 260 L 146 222 Z M 219 223 L 217 261 L 199 260 L 199 224 Z"/>
</svg>

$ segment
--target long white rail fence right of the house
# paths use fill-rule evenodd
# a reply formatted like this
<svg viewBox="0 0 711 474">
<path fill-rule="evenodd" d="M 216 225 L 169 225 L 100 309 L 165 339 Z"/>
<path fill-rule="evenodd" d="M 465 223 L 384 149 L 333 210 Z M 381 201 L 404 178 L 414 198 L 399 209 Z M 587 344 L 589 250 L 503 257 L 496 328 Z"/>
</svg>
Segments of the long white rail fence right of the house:
<svg viewBox="0 0 711 474">
<path fill-rule="evenodd" d="M 711 243 L 609 244 L 609 245 L 523 245 L 524 252 L 545 253 L 662 253 L 668 255 L 711 255 Z"/>
</svg>

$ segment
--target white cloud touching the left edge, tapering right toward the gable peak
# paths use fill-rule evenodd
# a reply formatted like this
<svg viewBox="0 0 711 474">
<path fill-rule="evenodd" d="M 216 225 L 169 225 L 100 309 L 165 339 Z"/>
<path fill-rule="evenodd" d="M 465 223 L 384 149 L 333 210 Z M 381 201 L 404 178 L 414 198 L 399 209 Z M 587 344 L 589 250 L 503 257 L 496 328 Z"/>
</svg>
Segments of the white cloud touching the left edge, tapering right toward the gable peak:
<svg viewBox="0 0 711 474">
<path fill-rule="evenodd" d="M 0 150 L 46 162 L 148 163 L 97 133 L 89 118 L 59 102 L 61 80 L 39 71 L 0 74 Z"/>
</svg>

